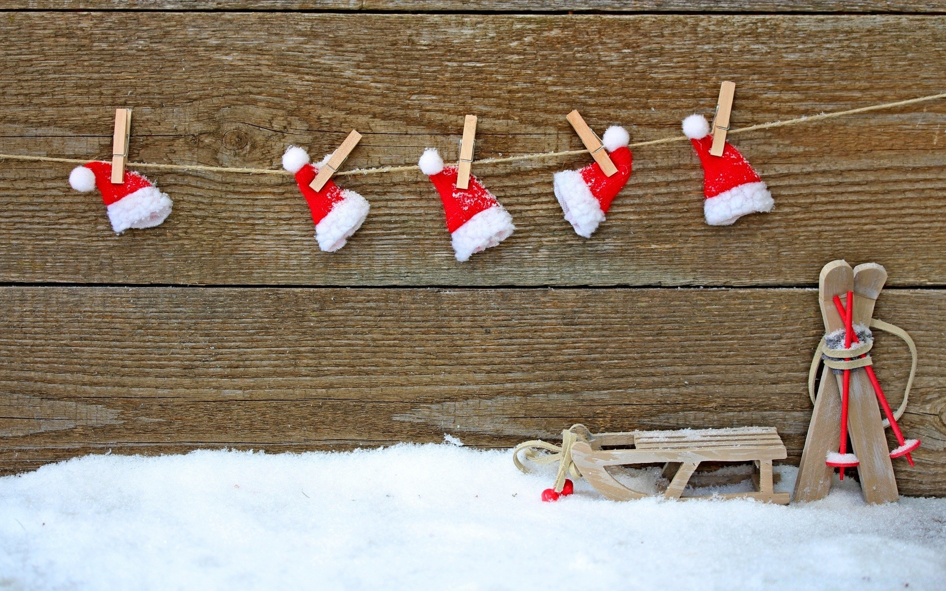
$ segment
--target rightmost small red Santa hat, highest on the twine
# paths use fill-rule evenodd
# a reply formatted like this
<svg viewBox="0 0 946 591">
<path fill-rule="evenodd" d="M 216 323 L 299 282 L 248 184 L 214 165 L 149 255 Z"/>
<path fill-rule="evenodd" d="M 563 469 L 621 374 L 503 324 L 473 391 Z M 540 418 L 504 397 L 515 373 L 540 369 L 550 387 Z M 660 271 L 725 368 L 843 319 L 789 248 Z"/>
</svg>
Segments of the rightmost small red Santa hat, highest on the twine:
<svg viewBox="0 0 946 591">
<path fill-rule="evenodd" d="M 692 114 L 684 119 L 683 133 L 703 163 L 703 214 L 710 226 L 727 226 L 746 214 L 772 211 L 772 194 L 738 149 L 727 142 L 722 156 L 710 154 L 712 136 L 706 117 Z"/>
</svg>

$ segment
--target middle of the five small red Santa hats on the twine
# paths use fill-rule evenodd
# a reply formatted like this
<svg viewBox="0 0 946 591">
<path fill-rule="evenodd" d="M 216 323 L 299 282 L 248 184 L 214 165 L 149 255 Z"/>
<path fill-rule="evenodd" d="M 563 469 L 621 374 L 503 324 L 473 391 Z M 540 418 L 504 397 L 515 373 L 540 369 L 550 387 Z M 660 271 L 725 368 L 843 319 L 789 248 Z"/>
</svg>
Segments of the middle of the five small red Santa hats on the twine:
<svg viewBox="0 0 946 591">
<path fill-rule="evenodd" d="M 466 189 L 457 188 L 457 167 L 444 166 L 436 148 L 428 148 L 417 163 L 440 193 L 447 214 L 447 230 L 458 261 L 469 260 L 470 254 L 498 245 L 513 235 L 513 217 L 499 200 L 470 175 Z"/>
</svg>

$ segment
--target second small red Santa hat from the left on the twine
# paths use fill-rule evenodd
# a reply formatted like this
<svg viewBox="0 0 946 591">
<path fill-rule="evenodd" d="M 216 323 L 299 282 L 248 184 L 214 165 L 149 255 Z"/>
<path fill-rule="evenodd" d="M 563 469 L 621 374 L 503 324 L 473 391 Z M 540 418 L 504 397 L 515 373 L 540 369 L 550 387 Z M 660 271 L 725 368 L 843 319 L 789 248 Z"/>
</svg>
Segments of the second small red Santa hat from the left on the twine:
<svg viewBox="0 0 946 591">
<path fill-rule="evenodd" d="M 318 166 L 328 162 L 331 154 L 317 166 L 310 165 L 308 153 L 303 148 L 289 146 L 283 154 L 283 168 L 295 174 L 299 190 L 308 202 L 315 222 L 315 239 L 324 252 L 335 252 L 345 245 L 349 236 L 358 232 L 364 218 L 368 217 L 368 200 L 355 191 L 339 188 L 330 179 L 321 191 L 309 186 L 316 175 Z"/>
</svg>

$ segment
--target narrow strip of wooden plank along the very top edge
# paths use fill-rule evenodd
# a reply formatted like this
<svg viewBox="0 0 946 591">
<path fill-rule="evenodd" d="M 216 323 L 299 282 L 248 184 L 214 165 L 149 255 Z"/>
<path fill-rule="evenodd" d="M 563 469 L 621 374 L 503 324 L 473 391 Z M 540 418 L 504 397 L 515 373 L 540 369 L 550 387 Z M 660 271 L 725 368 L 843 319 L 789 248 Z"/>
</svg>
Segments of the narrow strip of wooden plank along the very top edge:
<svg viewBox="0 0 946 591">
<path fill-rule="evenodd" d="M 939 2 L 901 0 L 13 0 L 3 9 L 389 10 L 406 12 L 942 12 Z"/>
</svg>

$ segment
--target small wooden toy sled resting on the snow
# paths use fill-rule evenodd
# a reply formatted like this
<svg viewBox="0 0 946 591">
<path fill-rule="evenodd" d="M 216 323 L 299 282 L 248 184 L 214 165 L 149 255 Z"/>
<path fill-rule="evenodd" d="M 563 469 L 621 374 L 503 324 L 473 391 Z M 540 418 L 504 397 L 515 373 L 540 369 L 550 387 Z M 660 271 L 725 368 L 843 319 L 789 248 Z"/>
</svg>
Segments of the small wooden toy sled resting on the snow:
<svg viewBox="0 0 946 591">
<path fill-rule="evenodd" d="M 540 456 L 534 449 L 552 451 Z M 546 442 L 521 443 L 525 457 L 538 463 L 561 461 L 555 481 L 556 494 L 565 487 L 566 476 L 585 477 L 591 486 L 612 500 L 631 500 L 650 496 L 625 486 L 608 468 L 636 464 L 664 464 L 663 475 L 669 480 L 663 495 L 666 498 L 706 498 L 706 495 L 681 496 L 701 462 L 753 462 L 752 475 L 757 489 L 745 493 L 715 495 L 718 498 L 755 498 L 768 503 L 787 505 L 788 493 L 773 490 L 772 461 L 783 460 L 787 453 L 775 427 L 750 426 L 720 429 L 684 429 L 680 431 L 630 431 L 626 433 L 591 433 L 583 425 L 562 432 L 562 445 Z M 711 478 L 710 478 L 711 481 Z M 695 484 L 695 483 L 693 483 Z M 568 492 L 566 493 L 568 494 Z M 553 495 L 557 498 L 557 495 Z"/>
</svg>

